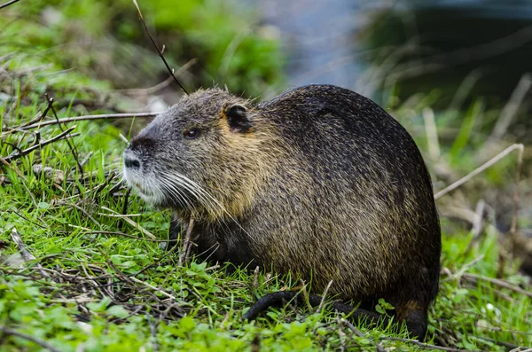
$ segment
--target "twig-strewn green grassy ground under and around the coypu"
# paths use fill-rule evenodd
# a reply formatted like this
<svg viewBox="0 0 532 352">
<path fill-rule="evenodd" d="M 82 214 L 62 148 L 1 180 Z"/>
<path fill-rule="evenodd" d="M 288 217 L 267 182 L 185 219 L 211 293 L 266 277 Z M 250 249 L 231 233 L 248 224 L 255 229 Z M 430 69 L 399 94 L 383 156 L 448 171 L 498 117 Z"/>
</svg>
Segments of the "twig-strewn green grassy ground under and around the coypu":
<svg viewBox="0 0 532 352">
<path fill-rule="evenodd" d="M 181 262 L 180 251 L 160 249 L 168 214 L 146 207 L 121 184 L 125 143 L 120 135 L 129 137 L 138 119 L 27 127 L 30 121 L 116 111 L 121 93 L 109 82 L 62 71 L 64 66 L 48 54 L 13 49 L 15 39 L 4 32 L 0 46 L 3 351 L 421 350 L 434 345 L 510 350 L 532 345 L 529 278 L 517 273 L 519 262 L 503 249 L 500 231 L 489 222 L 465 231 L 468 226 L 447 216 L 442 218 L 442 284 L 430 312 L 428 345 L 389 326 L 352 324 L 333 312 L 328 300 L 321 309 L 269 309 L 255 322 L 242 322 L 242 312 L 257 297 L 299 282 L 268 272 L 229 274 L 223 263 Z M 434 145 L 426 151 L 425 133 L 419 132 L 424 123 L 409 118 L 421 115 L 430 99 L 395 105 L 394 114 L 429 155 L 434 181 L 442 188 L 447 179 L 430 157 Z M 474 168 L 464 151 L 474 145 L 472 121 L 479 109 L 474 103 L 437 126 L 445 135 L 453 123 L 465 121 L 440 155 L 458 175 Z M 494 175 L 482 177 L 489 181 L 483 187 L 511 182 L 514 168 L 514 159 L 503 161 Z M 443 209 L 456 203 L 439 204 Z"/>
</svg>

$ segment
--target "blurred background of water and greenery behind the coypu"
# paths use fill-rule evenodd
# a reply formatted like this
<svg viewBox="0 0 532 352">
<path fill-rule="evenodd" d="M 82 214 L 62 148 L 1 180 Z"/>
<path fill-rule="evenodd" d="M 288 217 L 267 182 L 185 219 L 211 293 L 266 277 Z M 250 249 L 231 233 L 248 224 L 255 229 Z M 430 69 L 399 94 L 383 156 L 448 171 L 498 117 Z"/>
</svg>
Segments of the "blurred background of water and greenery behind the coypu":
<svg viewBox="0 0 532 352">
<path fill-rule="evenodd" d="M 532 271 L 532 0 L 139 5 L 188 90 L 217 84 L 268 99 L 330 83 L 374 99 L 415 138 L 435 192 L 524 144 L 517 233 L 506 235 L 517 150 L 437 203 L 446 234 L 472 236 L 474 245 L 497 233 Z M 160 111 L 182 95 L 129 0 L 21 1 L 3 10 L 0 42 L 2 59 L 20 53 L 17 69 L 43 82 L 33 90 L 49 92 L 73 114 Z M 0 82 L 4 101 L 24 91 Z"/>
</svg>

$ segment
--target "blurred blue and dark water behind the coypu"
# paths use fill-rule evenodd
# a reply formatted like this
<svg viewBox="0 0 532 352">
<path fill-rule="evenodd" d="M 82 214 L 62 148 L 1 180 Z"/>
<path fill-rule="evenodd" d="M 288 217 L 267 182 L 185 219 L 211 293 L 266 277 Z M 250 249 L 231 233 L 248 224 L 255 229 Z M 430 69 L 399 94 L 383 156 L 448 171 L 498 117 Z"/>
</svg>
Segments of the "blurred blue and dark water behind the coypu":
<svg viewBox="0 0 532 352">
<path fill-rule="evenodd" d="M 441 90 L 504 104 L 532 72 L 532 0 L 247 0 L 280 29 L 290 85 L 333 83 L 375 97 Z"/>
</svg>

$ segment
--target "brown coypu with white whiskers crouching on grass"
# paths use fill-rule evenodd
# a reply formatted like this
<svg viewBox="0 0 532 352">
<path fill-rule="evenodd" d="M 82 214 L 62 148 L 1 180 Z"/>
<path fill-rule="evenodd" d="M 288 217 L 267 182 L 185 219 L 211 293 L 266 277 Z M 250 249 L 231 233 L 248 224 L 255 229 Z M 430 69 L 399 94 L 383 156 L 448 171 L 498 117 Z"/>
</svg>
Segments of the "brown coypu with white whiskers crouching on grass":
<svg viewBox="0 0 532 352">
<path fill-rule="evenodd" d="M 157 116 L 123 160 L 143 199 L 173 209 L 171 237 L 193 217 L 196 254 L 290 271 L 313 293 L 332 280 L 328 293 L 363 302 L 372 321 L 384 298 L 425 336 L 441 252 L 431 179 L 411 136 L 372 100 L 331 85 L 258 105 L 200 90 Z M 291 297 L 270 294 L 262 308 Z"/>
</svg>

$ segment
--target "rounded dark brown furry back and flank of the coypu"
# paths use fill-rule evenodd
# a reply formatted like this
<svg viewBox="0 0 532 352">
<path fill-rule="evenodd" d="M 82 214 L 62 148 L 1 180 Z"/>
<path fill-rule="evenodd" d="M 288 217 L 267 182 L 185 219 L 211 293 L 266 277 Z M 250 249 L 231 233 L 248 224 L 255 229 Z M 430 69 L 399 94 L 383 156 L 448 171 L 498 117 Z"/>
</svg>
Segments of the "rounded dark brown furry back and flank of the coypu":
<svg viewBox="0 0 532 352">
<path fill-rule="evenodd" d="M 334 86 L 301 87 L 258 109 L 278 126 L 285 151 L 253 212 L 259 231 L 250 224 L 262 262 L 311 271 L 317 292 L 332 279 L 343 299 L 432 301 L 440 227 L 406 130 L 371 100 Z"/>
</svg>

